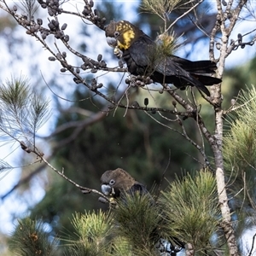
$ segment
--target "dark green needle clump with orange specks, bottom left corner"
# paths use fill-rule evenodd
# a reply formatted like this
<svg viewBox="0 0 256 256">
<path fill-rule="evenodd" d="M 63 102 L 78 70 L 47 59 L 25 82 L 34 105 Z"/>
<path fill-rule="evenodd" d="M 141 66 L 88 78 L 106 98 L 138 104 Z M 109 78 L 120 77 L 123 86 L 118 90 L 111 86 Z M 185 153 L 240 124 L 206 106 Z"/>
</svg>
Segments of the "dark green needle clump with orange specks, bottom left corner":
<svg viewBox="0 0 256 256">
<path fill-rule="evenodd" d="M 9 241 L 9 247 L 15 255 L 54 256 L 57 240 L 49 241 L 44 232 L 43 223 L 23 218 L 18 221 L 15 232 Z"/>
</svg>

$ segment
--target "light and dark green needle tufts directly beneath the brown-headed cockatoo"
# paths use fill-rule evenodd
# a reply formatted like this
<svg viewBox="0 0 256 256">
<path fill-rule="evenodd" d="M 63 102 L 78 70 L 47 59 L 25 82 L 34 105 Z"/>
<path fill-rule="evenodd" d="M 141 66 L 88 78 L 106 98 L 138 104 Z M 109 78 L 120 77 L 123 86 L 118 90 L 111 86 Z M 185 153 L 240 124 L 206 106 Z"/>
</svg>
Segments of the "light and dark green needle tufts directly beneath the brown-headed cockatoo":
<svg viewBox="0 0 256 256">
<path fill-rule="evenodd" d="M 152 198 L 125 195 L 113 212 L 73 216 L 78 239 L 68 241 L 67 255 L 155 255 L 160 214 Z"/>
</svg>

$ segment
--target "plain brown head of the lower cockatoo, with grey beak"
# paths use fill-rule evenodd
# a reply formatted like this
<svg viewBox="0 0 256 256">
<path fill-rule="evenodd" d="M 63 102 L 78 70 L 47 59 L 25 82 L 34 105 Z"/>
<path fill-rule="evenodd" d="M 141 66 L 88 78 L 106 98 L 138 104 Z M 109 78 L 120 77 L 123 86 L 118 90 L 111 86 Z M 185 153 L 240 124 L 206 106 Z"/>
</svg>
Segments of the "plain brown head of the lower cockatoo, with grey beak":
<svg viewBox="0 0 256 256">
<path fill-rule="evenodd" d="M 101 177 L 102 193 L 117 198 L 121 191 L 129 190 L 135 182 L 135 179 L 121 168 L 106 171 Z"/>
</svg>

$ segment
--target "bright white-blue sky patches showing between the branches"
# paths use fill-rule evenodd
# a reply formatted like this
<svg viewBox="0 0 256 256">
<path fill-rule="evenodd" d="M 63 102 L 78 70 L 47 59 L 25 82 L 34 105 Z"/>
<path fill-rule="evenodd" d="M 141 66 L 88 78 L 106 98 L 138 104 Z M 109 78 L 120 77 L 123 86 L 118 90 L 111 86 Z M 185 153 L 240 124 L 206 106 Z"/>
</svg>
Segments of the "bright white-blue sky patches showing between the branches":
<svg viewBox="0 0 256 256">
<path fill-rule="evenodd" d="M 17 3 L 19 2 L 20 1 L 17 1 Z M 136 19 L 137 14 L 134 13 L 131 7 L 137 6 L 138 3 L 140 3 L 139 1 L 115 0 L 115 1 L 109 1 L 109 2 L 121 3 L 124 5 L 123 9 L 125 10 L 124 11 L 125 20 L 132 21 Z M 9 3 L 13 3 L 13 1 L 9 1 Z M 101 3 L 101 1 L 95 1 L 95 3 Z M 65 3 L 65 4 L 66 6 L 68 5 L 67 9 L 76 10 L 79 4 L 83 4 L 83 1 L 70 1 L 69 3 Z M 2 14 L 3 13 L 0 12 L 0 15 Z M 65 19 L 60 18 L 60 21 L 64 23 Z M 72 35 L 73 33 L 77 33 L 77 29 L 79 27 L 77 26 L 77 24 L 80 23 L 80 20 L 78 18 L 72 18 L 72 21 L 71 21 L 69 18 L 67 23 L 68 23 L 67 33 L 70 35 Z M 231 38 L 236 39 L 238 32 L 246 33 L 253 30 L 254 27 L 255 27 L 255 23 L 253 22 L 247 22 L 247 26 L 243 26 L 241 22 L 237 26 L 236 30 L 233 32 Z M 8 34 L 8 32 L 6 33 Z M 24 34 L 25 34 L 24 30 L 22 29 L 17 30 L 15 32 L 15 38 L 25 38 Z M 91 53 L 91 57 L 96 59 L 96 53 L 98 52 L 104 52 L 104 54 L 106 54 L 106 58 L 110 57 L 113 54 L 113 49 L 109 49 L 108 44 L 105 42 L 104 33 L 96 32 L 95 36 L 97 38 L 96 42 L 102 42 L 102 44 L 93 44 L 93 45 L 91 44 L 89 46 L 89 52 Z M 82 35 L 76 34 L 76 39 L 78 42 L 80 42 L 80 39 L 81 39 L 80 37 L 82 37 Z M 70 37 L 70 38 L 74 38 L 74 37 Z M 16 49 L 18 56 L 20 56 L 20 59 L 22 59 L 22 62 L 20 62 L 19 60 L 9 61 L 8 53 L 11 46 L 6 44 L 6 41 L 4 40 L 4 38 L 0 38 L 0 44 L 1 44 L 0 61 L 1 63 L 9 63 L 9 65 L 4 65 L 1 67 L 1 71 L 0 71 L 1 80 L 2 79 L 4 80 L 4 77 L 12 75 L 13 73 L 30 77 L 30 74 L 32 73 L 31 64 L 36 65 L 38 60 L 40 61 L 40 73 L 43 74 L 44 79 L 46 81 L 51 78 L 51 75 L 52 75 L 51 70 L 55 70 L 59 68 L 59 65 L 57 62 L 49 63 L 48 61 L 49 53 L 44 49 L 42 49 L 42 46 L 40 44 L 37 44 L 37 42 L 34 42 L 33 38 L 26 37 L 26 44 L 31 45 L 33 49 L 32 52 L 30 51 L 23 52 L 23 51 L 20 51 L 19 49 Z M 74 41 L 73 42 L 71 41 L 71 44 L 74 46 L 74 48 L 75 46 L 77 46 L 76 42 Z M 207 51 L 206 53 L 201 51 L 201 49 L 205 49 L 206 47 L 205 44 L 207 43 L 202 42 L 201 44 L 196 44 L 194 49 L 189 49 L 189 46 L 188 46 L 187 50 L 192 50 L 193 52 L 195 52 L 195 54 L 190 55 L 191 60 L 199 60 L 201 58 L 203 59 L 207 58 Z M 37 55 L 34 55 L 35 51 Z M 237 49 L 235 52 L 233 52 L 229 56 L 226 62 L 227 64 L 226 67 L 233 67 L 234 65 L 242 64 L 248 60 L 248 56 L 253 55 L 254 53 L 255 53 L 255 45 L 251 47 L 247 47 L 246 49 Z M 26 55 L 26 58 L 24 58 L 24 55 Z M 182 51 L 177 51 L 177 55 L 182 56 L 183 55 Z M 111 64 L 111 62 L 108 62 L 108 63 Z M 116 65 L 116 62 L 113 61 L 113 66 L 115 65 Z M 67 79 L 66 75 L 63 75 L 62 79 L 63 79 L 63 84 L 66 84 L 66 79 Z M 44 84 L 42 80 L 38 81 L 38 79 L 35 81 L 32 80 L 31 82 Z M 71 90 L 73 89 L 67 87 L 67 88 L 64 88 L 61 92 L 58 92 L 58 94 L 60 96 L 62 96 L 62 94 L 63 96 L 65 96 L 67 92 Z M 49 90 L 48 91 L 44 90 L 44 94 L 47 96 L 49 94 Z M 63 102 L 63 104 L 65 103 Z M 54 108 L 54 105 L 52 107 Z M 54 124 L 55 124 L 55 115 L 53 114 L 53 116 L 51 117 L 51 119 L 49 119 L 47 124 L 44 125 L 44 127 L 39 131 L 40 134 L 41 135 L 49 134 L 49 132 L 52 131 Z M 14 154 L 12 153 L 9 155 L 9 153 L 13 152 L 13 150 L 15 150 L 15 153 Z M 3 151 L 0 151 L 0 152 L 2 155 L 2 159 L 4 158 L 4 160 L 8 161 L 10 165 L 17 166 L 18 162 L 15 159 L 20 157 L 20 154 L 22 153 L 20 151 L 21 149 L 18 145 L 11 145 L 9 146 L 8 150 L 4 148 Z M 20 169 L 14 169 L 11 172 L 8 172 L 8 173 L 3 172 L 2 175 L 0 174 L 0 196 L 4 195 L 7 191 L 9 191 L 9 189 L 11 189 L 15 185 L 15 183 L 19 180 L 19 178 L 20 178 Z M 20 198 L 20 194 L 17 192 L 14 192 L 5 201 L 0 201 L 0 212 L 1 212 L 0 232 L 9 234 L 14 229 L 13 216 L 14 215 L 22 216 L 26 214 L 27 207 L 32 207 L 34 204 L 36 204 L 38 201 L 40 201 L 44 197 L 44 185 L 45 184 L 41 183 L 40 178 L 35 177 L 32 181 L 32 185 L 30 188 L 30 191 L 32 191 L 32 193 L 27 192 L 26 195 L 23 195 L 23 198 Z M 254 231 L 250 230 L 250 232 L 252 232 L 253 234 Z M 248 236 L 245 236 L 245 237 L 248 237 Z M 244 243 L 250 244 L 250 241 L 246 238 L 246 241 L 244 241 Z M 0 241 L 0 244 L 1 244 L 1 241 Z M 0 253 L 1 253 L 1 247 L 0 247 Z"/>
</svg>

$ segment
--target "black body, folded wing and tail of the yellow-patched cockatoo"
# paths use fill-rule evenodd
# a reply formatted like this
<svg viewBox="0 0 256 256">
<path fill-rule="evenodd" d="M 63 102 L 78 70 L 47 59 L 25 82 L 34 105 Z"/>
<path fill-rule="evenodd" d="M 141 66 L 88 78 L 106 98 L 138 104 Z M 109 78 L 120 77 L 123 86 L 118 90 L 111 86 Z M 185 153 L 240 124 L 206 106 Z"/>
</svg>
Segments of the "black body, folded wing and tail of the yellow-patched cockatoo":
<svg viewBox="0 0 256 256">
<path fill-rule="evenodd" d="M 157 50 L 157 45 L 146 34 L 142 34 L 131 44 L 129 49 L 123 53 L 128 70 L 133 75 L 145 75 L 151 77 L 155 82 L 174 84 L 177 88 L 186 85 L 195 85 L 210 96 L 209 90 L 192 75 L 194 73 L 212 73 L 213 67 L 208 64 L 211 61 L 189 61 L 175 55 L 163 55 Z M 206 65 L 207 64 L 207 65 Z M 204 70 L 203 66 L 207 69 Z M 191 71 L 191 73 L 190 73 Z M 207 83 L 212 84 L 212 80 Z"/>
</svg>

